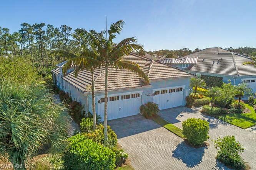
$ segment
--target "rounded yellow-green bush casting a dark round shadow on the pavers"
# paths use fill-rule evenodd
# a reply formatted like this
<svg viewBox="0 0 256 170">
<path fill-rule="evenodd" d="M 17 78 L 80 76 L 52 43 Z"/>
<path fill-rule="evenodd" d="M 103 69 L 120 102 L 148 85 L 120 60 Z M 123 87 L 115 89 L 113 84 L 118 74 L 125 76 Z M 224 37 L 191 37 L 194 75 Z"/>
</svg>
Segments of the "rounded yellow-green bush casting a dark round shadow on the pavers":
<svg viewBox="0 0 256 170">
<path fill-rule="evenodd" d="M 182 122 L 182 133 L 190 144 L 202 145 L 209 138 L 209 123 L 207 121 L 189 118 Z"/>
</svg>

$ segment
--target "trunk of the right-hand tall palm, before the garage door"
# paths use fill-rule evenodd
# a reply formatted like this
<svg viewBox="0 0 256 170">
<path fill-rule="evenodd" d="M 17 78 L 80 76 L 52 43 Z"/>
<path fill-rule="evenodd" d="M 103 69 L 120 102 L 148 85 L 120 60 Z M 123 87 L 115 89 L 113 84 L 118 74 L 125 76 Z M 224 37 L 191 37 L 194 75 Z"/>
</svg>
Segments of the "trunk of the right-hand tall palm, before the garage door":
<svg viewBox="0 0 256 170">
<path fill-rule="evenodd" d="M 108 66 L 105 65 L 104 141 L 108 141 Z"/>
</svg>

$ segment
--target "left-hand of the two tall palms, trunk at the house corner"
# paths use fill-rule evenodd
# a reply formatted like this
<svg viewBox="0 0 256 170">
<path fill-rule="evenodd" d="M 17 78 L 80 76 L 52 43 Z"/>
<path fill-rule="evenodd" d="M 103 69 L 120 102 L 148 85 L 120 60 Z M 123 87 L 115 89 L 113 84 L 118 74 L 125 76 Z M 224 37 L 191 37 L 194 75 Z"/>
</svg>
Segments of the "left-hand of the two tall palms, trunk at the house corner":
<svg viewBox="0 0 256 170">
<path fill-rule="evenodd" d="M 98 36 L 100 36 L 99 33 Z M 103 33 L 104 34 L 104 33 Z M 67 74 L 68 69 L 71 69 L 72 67 L 75 68 L 75 77 L 77 77 L 78 73 L 82 70 L 89 70 L 91 72 L 91 96 L 92 96 L 92 115 L 93 115 L 93 129 L 95 130 L 97 128 L 96 126 L 96 112 L 95 112 L 95 87 L 94 87 L 94 71 L 96 68 L 101 67 L 100 57 L 90 47 L 90 43 L 88 42 L 88 39 L 81 38 L 78 34 L 73 34 L 73 37 L 77 39 L 81 47 L 81 53 L 79 55 L 73 54 L 71 52 L 67 51 L 54 51 L 51 53 L 51 55 L 57 55 L 62 58 L 69 58 L 68 62 L 63 66 L 62 72 L 64 75 Z"/>
</svg>

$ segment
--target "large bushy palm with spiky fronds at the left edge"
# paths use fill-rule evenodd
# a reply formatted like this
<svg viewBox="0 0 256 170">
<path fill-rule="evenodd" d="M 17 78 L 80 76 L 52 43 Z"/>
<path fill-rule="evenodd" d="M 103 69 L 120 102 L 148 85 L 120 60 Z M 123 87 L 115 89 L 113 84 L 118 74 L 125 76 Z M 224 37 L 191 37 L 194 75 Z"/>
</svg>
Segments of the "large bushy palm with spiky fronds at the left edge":
<svg viewBox="0 0 256 170">
<path fill-rule="evenodd" d="M 50 145 L 50 153 L 65 150 L 69 116 L 48 91 L 35 84 L 0 83 L 0 157 L 14 166 L 25 167 L 43 146 Z"/>
</svg>

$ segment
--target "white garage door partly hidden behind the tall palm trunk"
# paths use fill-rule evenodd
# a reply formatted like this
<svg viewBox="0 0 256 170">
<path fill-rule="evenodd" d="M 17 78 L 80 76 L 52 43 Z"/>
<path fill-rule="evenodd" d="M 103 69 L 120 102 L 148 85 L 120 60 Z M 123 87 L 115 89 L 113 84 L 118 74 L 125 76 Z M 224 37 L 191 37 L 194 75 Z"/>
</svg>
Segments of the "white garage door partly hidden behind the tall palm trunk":
<svg viewBox="0 0 256 170">
<path fill-rule="evenodd" d="M 104 120 L 104 96 L 97 97 L 98 113 Z M 140 113 L 141 91 L 108 95 L 108 120 L 123 118 Z"/>
</svg>

